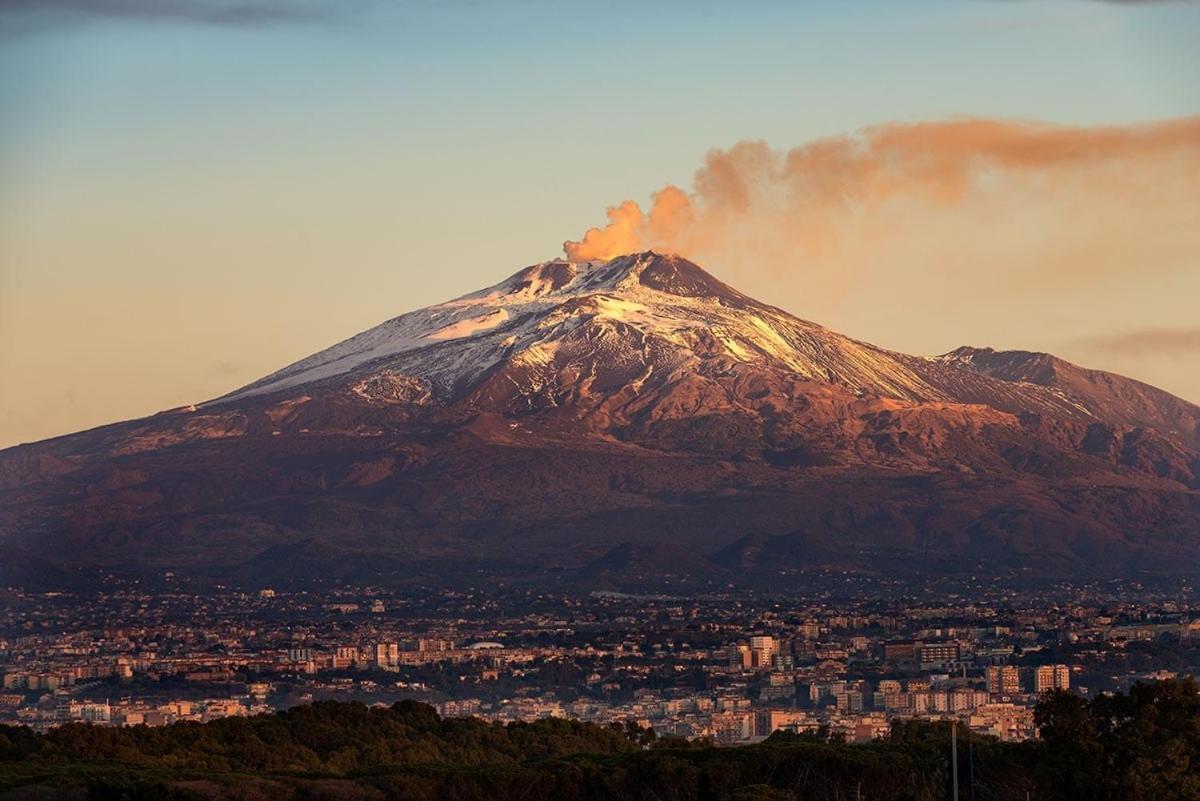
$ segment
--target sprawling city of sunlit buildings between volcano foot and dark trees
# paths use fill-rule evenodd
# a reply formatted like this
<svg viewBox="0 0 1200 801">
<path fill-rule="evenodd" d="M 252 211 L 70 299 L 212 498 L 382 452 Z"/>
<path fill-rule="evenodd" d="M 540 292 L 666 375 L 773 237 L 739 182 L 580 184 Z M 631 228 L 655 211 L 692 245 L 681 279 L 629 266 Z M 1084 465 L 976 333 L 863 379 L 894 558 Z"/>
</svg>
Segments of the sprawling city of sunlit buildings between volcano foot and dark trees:
<svg viewBox="0 0 1200 801">
<path fill-rule="evenodd" d="M 94 596 L 8 590 L 0 723 L 166 725 L 415 699 L 443 717 L 632 721 L 721 745 L 779 730 L 864 742 L 907 718 L 1020 741 L 1048 691 L 1094 697 L 1200 671 L 1200 603 L 1123 585 L 883 602 L 110 583 Z"/>
</svg>

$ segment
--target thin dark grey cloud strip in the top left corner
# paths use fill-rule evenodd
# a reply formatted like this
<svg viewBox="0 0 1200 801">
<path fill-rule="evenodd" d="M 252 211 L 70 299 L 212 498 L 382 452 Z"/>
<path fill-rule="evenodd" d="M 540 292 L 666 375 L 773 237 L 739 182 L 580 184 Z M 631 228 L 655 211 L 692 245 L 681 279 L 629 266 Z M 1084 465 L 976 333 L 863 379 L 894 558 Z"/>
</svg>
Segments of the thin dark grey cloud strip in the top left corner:
<svg viewBox="0 0 1200 801">
<path fill-rule="evenodd" d="M 0 13 L 55 20 L 131 19 L 230 28 L 319 20 L 356 6 L 317 0 L 0 0 Z"/>
</svg>

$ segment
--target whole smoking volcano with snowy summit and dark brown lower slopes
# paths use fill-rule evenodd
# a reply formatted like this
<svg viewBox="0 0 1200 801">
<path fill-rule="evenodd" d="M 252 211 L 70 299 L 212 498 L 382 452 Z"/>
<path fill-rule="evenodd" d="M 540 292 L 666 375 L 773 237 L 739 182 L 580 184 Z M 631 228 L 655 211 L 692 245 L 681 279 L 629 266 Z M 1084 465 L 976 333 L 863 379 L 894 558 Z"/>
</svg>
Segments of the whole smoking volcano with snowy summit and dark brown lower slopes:
<svg viewBox="0 0 1200 801">
<path fill-rule="evenodd" d="M 1048 354 L 894 353 L 652 252 L 0 451 L 14 583 L 1192 577 L 1198 546 L 1196 405 Z"/>
</svg>

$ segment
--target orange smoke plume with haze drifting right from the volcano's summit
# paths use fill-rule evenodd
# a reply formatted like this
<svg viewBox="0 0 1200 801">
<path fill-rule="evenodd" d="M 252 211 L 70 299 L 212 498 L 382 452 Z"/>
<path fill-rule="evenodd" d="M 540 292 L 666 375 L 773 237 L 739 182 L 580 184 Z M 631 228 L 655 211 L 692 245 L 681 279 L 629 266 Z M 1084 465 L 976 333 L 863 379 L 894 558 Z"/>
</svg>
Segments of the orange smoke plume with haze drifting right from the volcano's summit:
<svg viewBox="0 0 1200 801">
<path fill-rule="evenodd" d="M 986 291 L 1169 271 L 1200 253 L 1200 116 L 1072 127 L 888 124 L 713 150 L 686 191 L 564 243 L 575 260 L 673 251 L 829 300 L 869 277 Z M 734 277 L 734 276 L 731 276 Z"/>
</svg>

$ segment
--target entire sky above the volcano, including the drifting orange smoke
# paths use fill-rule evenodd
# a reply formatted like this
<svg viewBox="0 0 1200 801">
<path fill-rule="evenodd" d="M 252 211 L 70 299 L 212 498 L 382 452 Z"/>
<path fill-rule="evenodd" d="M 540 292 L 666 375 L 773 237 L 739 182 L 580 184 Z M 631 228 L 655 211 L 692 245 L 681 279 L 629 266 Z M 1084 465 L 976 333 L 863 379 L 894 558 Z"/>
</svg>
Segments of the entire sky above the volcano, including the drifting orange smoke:
<svg viewBox="0 0 1200 801">
<path fill-rule="evenodd" d="M 222 395 L 625 200 L 628 242 L 850 336 L 1200 402 L 1198 37 L 1186 0 L 0 0 L 0 447 Z"/>
</svg>

